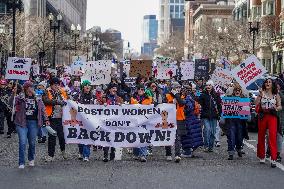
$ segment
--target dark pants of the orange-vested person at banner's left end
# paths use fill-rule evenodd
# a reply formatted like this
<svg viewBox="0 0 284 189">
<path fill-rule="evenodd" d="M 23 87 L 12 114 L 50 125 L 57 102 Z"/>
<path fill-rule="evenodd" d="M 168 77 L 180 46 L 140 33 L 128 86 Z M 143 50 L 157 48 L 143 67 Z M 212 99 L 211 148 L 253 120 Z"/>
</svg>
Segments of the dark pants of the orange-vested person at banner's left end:
<svg viewBox="0 0 284 189">
<path fill-rule="evenodd" d="M 50 126 L 57 132 L 57 137 L 59 140 L 60 150 L 65 151 L 65 139 L 62 126 L 62 119 L 50 119 Z M 54 157 L 56 146 L 56 136 L 48 134 L 48 155 Z"/>
</svg>

